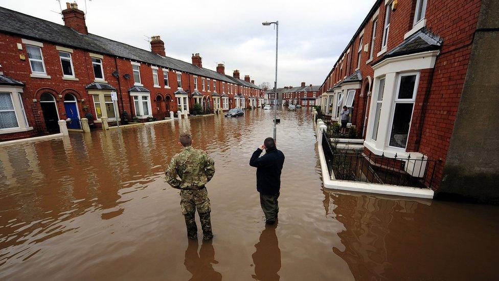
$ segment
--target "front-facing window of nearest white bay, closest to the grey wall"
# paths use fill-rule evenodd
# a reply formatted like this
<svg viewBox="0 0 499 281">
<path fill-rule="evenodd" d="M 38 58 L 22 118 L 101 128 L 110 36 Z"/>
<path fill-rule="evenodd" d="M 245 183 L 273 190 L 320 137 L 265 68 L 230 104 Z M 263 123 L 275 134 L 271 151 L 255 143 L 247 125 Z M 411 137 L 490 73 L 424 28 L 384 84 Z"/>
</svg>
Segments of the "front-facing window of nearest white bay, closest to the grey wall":
<svg viewBox="0 0 499 281">
<path fill-rule="evenodd" d="M 389 146 L 405 148 L 417 92 L 417 74 L 401 74 L 392 115 Z"/>
</svg>

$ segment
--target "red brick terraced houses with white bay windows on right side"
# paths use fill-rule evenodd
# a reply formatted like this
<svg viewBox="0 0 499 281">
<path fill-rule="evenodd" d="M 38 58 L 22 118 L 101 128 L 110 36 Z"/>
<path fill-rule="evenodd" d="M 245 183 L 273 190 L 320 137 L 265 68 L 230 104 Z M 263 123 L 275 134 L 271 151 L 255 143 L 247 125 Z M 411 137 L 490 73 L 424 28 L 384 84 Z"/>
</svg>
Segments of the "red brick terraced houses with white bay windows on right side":
<svg viewBox="0 0 499 281">
<path fill-rule="evenodd" d="M 498 6 L 375 1 L 321 85 L 322 112 L 336 122 L 347 106 L 365 154 L 439 160 L 437 198 L 499 202 Z"/>
</svg>

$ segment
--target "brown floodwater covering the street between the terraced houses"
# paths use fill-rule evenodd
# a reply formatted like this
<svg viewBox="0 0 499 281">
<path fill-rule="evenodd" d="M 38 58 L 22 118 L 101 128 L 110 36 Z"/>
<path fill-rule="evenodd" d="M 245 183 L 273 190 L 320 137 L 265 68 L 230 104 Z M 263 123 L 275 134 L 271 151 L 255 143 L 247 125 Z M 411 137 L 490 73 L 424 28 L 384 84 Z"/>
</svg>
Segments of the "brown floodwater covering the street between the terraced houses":
<svg viewBox="0 0 499 281">
<path fill-rule="evenodd" d="M 324 190 L 310 112 L 279 115 L 274 226 L 248 166 L 269 111 L 0 147 L 0 279 L 499 278 L 497 206 Z M 208 243 L 187 239 L 165 182 L 185 129 L 216 163 Z"/>
</svg>

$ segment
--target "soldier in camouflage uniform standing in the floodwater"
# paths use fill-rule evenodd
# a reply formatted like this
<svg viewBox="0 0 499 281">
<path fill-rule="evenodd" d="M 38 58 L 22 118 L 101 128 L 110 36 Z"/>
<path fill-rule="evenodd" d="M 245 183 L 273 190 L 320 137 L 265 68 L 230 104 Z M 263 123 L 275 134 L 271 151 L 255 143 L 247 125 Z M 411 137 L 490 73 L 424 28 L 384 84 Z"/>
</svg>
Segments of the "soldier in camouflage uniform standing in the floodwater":
<svg viewBox="0 0 499 281">
<path fill-rule="evenodd" d="M 215 162 L 200 149 L 191 146 L 192 137 L 188 133 L 179 136 L 182 152 L 172 157 L 166 170 L 166 181 L 180 189 L 180 208 L 186 219 L 187 236 L 197 239 L 197 226 L 194 215 L 199 214 L 203 240 L 213 238 L 210 222 L 210 199 L 205 184 L 215 174 Z"/>
</svg>

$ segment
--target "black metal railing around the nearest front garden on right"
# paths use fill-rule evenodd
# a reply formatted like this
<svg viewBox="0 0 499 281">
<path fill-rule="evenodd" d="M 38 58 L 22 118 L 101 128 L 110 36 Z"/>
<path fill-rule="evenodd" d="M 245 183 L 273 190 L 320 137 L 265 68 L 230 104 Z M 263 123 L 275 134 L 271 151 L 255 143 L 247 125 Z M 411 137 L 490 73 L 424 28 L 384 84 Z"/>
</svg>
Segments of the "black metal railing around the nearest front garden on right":
<svg viewBox="0 0 499 281">
<path fill-rule="evenodd" d="M 322 147 L 329 174 L 337 180 L 390 184 L 411 187 L 434 187 L 440 160 L 422 157 L 386 157 L 368 155 L 358 150 L 339 151 L 323 134 Z"/>
</svg>

